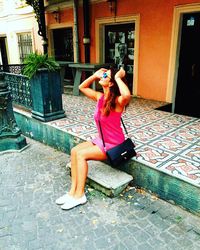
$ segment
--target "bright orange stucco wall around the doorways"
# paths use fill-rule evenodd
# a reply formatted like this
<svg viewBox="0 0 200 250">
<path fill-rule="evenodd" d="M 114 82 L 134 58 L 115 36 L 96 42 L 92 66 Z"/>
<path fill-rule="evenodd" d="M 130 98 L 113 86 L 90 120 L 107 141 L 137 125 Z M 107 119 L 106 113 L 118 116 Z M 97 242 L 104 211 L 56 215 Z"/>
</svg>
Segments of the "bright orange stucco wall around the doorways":
<svg viewBox="0 0 200 250">
<path fill-rule="evenodd" d="M 139 46 L 138 46 L 138 67 L 137 67 L 137 91 L 136 95 L 153 100 L 167 101 L 168 75 L 170 50 L 172 44 L 172 25 L 174 9 L 179 5 L 200 3 L 194 0 L 118 0 L 117 17 L 132 15 L 140 16 L 139 23 Z M 72 9 L 64 10 L 61 22 L 73 20 Z M 91 30 L 91 62 L 96 62 L 96 54 L 99 48 L 96 47 L 95 21 L 113 16 L 106 1 L 94 2 L 90 6 L 90 30 Z M 83 39 L 83 10 L 79 7 L 79 46 L 80 59 L 84 62 Z M 51 24 L 54 20 L 51 19 Z M 55 22 L 55 21 L 54 21 Z M 115 19 L 113 17 L 113 23 Z M 57 27 L 59 25 L 57 24 Z M 178 30 L 177 30 L 178 32 Z M 99 52 L 98 52 L 99 53 Z M 102 52 L 100 52 L 102 53 Z"/>
</svg>

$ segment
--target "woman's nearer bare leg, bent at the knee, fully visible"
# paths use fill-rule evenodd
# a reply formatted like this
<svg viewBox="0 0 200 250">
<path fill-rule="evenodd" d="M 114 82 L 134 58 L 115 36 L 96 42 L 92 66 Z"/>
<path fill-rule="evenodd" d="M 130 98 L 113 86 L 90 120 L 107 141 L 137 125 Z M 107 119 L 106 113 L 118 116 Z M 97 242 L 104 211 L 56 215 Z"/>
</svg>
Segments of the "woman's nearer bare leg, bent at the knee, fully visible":
<svg viewBox="0 0 200 250">
<path fill-rule="evenodd" d="M 106 154 L 94 145 L 92 142 L 84 144 L 83 147 L 77 150 L 76 154 L 76 190 L 74 192 L 75 198 L 80 198 L 84 195 L 85 182 L 88 173 L 88 160 L 105 160 Z"/>
</svg>

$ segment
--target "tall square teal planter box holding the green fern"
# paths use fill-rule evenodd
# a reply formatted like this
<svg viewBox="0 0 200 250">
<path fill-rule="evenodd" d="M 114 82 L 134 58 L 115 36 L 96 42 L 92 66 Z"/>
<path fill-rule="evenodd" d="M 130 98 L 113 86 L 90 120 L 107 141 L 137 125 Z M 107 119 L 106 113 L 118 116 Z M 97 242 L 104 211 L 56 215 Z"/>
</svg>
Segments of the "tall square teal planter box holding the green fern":
<svg viewBox="0 0 200 250">
<path fill-rule="evenodd" d="M 48 122 L 65 117 L 59 71 L 39 69 L 31 79 L 32 117 Z"/>
</svg>

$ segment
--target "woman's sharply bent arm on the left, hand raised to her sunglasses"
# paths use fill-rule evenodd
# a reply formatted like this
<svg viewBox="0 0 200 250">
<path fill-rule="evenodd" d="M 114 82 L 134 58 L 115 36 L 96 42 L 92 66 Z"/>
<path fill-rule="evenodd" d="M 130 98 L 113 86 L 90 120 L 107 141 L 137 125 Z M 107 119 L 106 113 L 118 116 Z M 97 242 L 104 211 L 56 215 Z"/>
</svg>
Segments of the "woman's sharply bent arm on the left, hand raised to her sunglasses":
<svg viewBox="0 0 200 250">
<path fill-rule="evenodd" d="M 105 71 L 105 69 L 100 69 L 100 70 L 96 71 L 93 75 L 88 77 L 85 81 L 83 81 L 79 85 L 79 90 L 87 97 L 97 101 L 101 96 L 101 92 L 91 89 L 90 85 L 94 81 L 99 80 L 101 75 L 102 75 L 102 72 L 104 72 L 104 71 Z"/>
</svg>

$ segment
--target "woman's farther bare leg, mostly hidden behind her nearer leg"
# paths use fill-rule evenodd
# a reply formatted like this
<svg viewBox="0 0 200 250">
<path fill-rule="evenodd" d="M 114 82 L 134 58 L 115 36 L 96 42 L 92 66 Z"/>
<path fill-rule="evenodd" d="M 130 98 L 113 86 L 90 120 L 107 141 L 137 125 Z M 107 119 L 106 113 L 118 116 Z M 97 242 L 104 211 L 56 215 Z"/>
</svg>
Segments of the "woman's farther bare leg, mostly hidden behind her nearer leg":
<svg viewBox="0 0 200 250">
<path fill-rule="evenodd" d="M 92 144 L 93 145 L 93 144 Z M 77 187 L 77 153 L 81 149 L 85 149 L 91 146 L 91 142 L 83 142 L 73 147 L 71 150 L 71 188 L 69 194 L 74 196 Z"/>
</svg>

